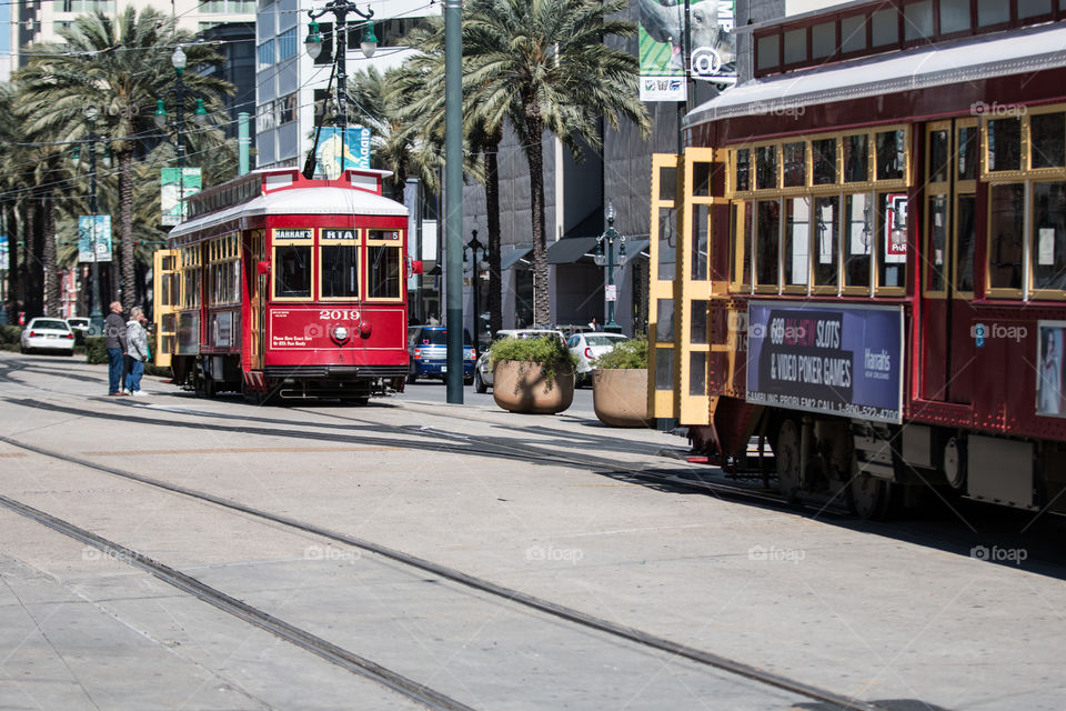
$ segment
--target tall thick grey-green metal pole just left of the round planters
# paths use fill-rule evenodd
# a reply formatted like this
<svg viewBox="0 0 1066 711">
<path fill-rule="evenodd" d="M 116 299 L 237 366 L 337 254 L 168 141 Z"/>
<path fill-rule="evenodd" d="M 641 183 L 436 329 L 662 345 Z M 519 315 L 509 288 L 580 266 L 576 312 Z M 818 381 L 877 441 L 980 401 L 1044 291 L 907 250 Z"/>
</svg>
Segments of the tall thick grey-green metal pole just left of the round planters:
<svg viewBox="0 0 1066 711">
<path fill-rule="evenodd" d="M 444 248 L 447 402 L 463 403 L 463 3 L 444 1 Z"/>
</svg>

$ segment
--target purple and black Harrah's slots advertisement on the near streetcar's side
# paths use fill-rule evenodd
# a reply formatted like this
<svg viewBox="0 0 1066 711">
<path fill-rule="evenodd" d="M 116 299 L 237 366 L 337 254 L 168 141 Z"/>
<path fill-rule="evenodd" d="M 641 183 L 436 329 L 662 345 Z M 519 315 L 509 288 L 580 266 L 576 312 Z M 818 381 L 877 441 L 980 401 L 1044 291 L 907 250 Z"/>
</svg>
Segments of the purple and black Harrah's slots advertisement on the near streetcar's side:
<svg viewBox="0 0 1066 711">
<path fill-rule="evenodd" d="M 751 301 L 747 401 L 901 422 L 903 308 Z"/>
</svg>

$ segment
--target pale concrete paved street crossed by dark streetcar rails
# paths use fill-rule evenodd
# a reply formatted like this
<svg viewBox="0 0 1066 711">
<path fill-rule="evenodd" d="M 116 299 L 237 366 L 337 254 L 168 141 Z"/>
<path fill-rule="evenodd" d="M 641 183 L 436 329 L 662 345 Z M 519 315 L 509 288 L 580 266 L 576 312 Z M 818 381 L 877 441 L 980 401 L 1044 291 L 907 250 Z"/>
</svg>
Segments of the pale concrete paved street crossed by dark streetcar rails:
<svg viewBox="0 0 1066 711">
<path fill-rule="evenodd" d="M 471 388 L 444 404 L 432 382 L 366 408 L 259 408 L 154 378 L 148 398 L 109 399 L 105 374 L 0 353 L 0 495 L 455 708 L 839 708 L 776 682 L 899 711 L 1066 707 L 1060 529 L 1019 534 L 1028 517 L 955 505 L 873 524 L 682 488 L 657 477 L 706 468 L 658 452 L 684 440 L 602 427 L 589 390 L 533 417 Z M 0 579 L 0 709 L 422 708 L 8 505 Z"/>
</svg>

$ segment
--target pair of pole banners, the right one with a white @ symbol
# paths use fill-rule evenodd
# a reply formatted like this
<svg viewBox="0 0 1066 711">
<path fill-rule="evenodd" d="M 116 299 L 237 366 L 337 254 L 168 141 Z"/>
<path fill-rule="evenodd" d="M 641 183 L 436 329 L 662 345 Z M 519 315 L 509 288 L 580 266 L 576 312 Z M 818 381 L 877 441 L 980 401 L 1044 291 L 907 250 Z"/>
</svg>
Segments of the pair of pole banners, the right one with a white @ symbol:
<svg viewBox="0 0 1066 711">
<path fill-rule="evenodd" d="M 733 6 L 733 0 L 693 0 L 686 23 L 684 0 L 640 0 L 641 101 L 685 101 L 686 69 L 693 79 L 736 82 Z M 687 68 L 682 41 L 686 24 Z"/>
</svg>

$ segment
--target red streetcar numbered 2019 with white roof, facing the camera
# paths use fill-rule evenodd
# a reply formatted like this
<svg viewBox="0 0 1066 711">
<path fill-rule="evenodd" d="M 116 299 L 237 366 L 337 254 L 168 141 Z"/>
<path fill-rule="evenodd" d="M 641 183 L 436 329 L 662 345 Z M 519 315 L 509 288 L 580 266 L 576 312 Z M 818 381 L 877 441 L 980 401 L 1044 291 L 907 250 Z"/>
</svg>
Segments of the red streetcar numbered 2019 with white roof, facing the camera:
<svg viewBox="0 0 1066 711">
<path fill-rule="evenodd" d="M 365 402 L 408 372 L 408 210 L 389 173 L 263 170 L 189 200 L 155 252 L 155 363 L 208 397 Z"/>
</svg>

